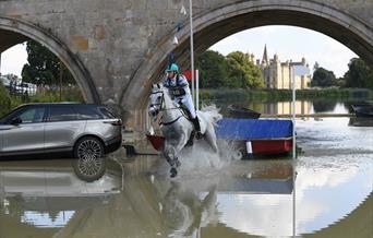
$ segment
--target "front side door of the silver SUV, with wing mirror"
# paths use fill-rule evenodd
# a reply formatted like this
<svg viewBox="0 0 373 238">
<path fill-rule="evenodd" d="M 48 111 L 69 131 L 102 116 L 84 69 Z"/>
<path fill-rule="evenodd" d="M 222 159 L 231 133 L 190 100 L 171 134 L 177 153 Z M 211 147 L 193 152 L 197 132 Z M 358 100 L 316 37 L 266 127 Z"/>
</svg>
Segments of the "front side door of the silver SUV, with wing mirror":
<svg viewBox="0 0 373 238">
<path fill-rule="evenodd" d="M 25 106 L 0 126 L 2 155 L 35 154 L 44 152 L 44 106 Z"/>
</svg>

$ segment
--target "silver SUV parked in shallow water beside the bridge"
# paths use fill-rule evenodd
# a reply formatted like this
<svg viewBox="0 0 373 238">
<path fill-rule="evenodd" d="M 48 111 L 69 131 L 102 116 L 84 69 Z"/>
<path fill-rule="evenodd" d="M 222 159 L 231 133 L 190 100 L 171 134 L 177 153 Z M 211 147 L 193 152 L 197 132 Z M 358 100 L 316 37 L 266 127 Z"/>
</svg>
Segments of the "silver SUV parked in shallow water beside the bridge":
<svg viewBox="0 0 373 238">
<path fill-rule="evenodd" d="M 0 119 L 0 157 L 67 154 L 95 159 L 121 146 L 122 121 L 87 104 L 27 104 Z"/>
</svg>

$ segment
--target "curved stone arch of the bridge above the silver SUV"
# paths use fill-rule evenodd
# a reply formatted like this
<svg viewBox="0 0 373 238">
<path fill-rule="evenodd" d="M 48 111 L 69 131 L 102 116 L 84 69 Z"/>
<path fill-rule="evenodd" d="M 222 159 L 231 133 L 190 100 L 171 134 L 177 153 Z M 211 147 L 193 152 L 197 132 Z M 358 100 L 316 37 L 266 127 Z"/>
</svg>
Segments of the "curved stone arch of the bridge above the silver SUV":
<svg viewBox="0 0 373 238">
<path fill-rule="evenodd" d="M 29 22 L 7 16 L 0 16 L 0 33 L 1 35 L 8 35 L 10 38 L 10 40 L 3 39 L 4 41 L 0 43 L 3 44 L 0 46 L 1 51 L 24 41 L 27 38 L 34 39 L 46 46 L 70 70 L 81 87 L 84 99 L 87 103 L 100 103 L 94 81 L 82 61 L 68 48 L 67 45 L 51 33 Z"/>
</svg>

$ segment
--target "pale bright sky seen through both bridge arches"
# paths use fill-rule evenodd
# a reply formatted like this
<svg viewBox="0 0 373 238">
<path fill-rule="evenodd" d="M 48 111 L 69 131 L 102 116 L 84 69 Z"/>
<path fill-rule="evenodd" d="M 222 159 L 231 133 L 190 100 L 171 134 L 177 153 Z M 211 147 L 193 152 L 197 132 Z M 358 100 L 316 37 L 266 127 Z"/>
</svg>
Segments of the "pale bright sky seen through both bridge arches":
<svg viewBox="0 0 373 238">
<path fill-rule="evenodd" d="M 231 51 L 254 53 L 262 59 L 264 45 L 268 57 L 275 53 L 280 61 L 300 61 L 303 57 L 313 69 L 317 61 L 320 67 L 332 70 L 336 76 L 342 76 L 348 70 L 348 62 L 357 57 L 354 52 L 337 40 L 321 33 L 294 26 L 262 26 L 231 35 L 210 47 L 212 50 L 228 55 Z M 17 45 L 1 55 L 2 74 L 21 75 L 22 67 L 27 62 L 24 45 Z"/>
</svg>

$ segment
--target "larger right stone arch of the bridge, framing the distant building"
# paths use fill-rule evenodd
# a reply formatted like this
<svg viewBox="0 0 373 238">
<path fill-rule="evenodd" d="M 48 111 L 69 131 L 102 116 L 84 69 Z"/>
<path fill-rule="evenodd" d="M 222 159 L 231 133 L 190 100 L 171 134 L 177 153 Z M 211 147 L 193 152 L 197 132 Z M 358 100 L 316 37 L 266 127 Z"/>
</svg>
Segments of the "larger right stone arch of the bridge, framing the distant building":
<svg viewBox="0 0 373 238">
<path fill-rule="evenodd" d="M 195 55 L 229 35 L 265 25 L 291 25 L 323 33 L 340 41 L 373 66 L 372 26 L 333 5 L 312 0 L 240 1 L 201 12 L 194 15 L 193 20 Z M 172 45 L 175 35 L 179 38 L 177 47 Z M 186 64 L 190 51 L 188 22 L 179 33 L 173 29 L 161 38 L 152 55 L 145 58 L 122 93 L 122 105 L 128 109 L 145 106 L 149 86 L 159 81 L 171 51 L 176 53 L 180 64 Z"/>
</svg>

